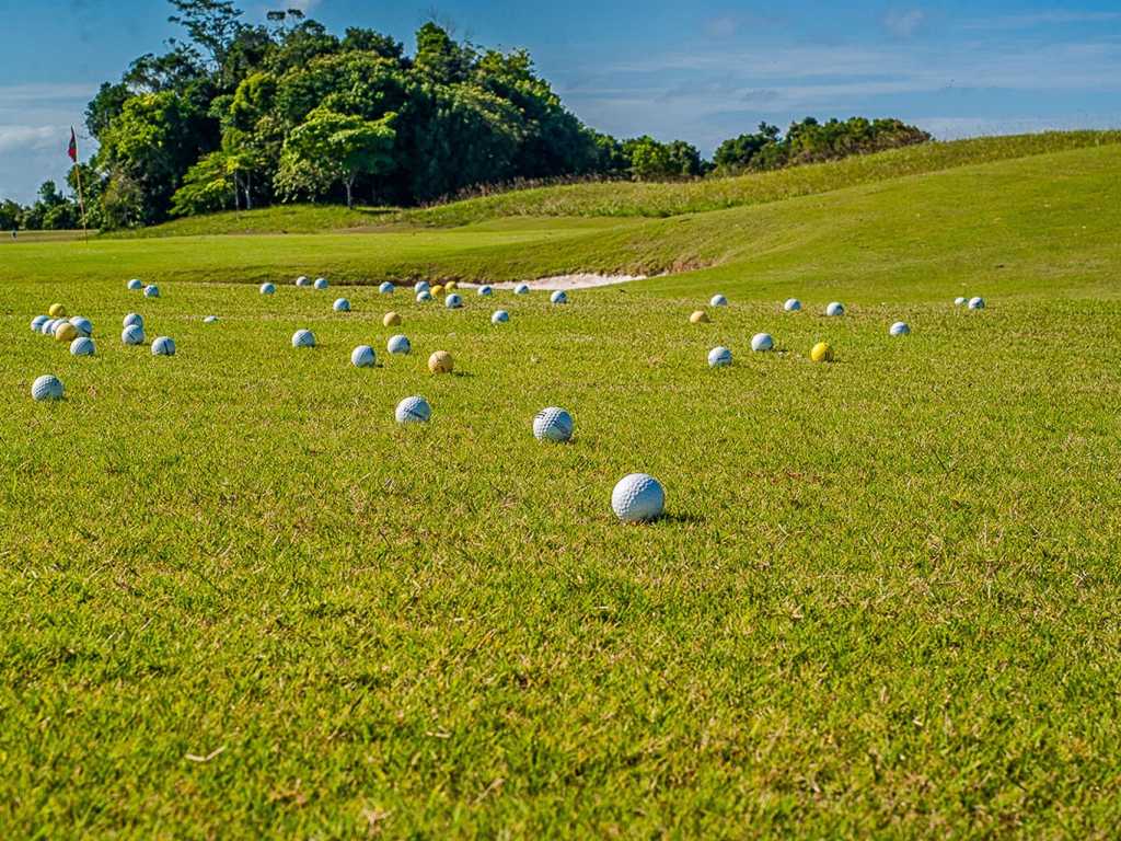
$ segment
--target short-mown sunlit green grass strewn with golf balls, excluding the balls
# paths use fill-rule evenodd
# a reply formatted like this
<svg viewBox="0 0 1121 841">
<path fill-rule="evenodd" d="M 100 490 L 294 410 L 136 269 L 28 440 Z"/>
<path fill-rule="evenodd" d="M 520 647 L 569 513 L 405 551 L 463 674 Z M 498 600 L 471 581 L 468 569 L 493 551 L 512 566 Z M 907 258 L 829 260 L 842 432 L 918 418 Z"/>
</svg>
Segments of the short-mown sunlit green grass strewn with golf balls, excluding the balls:
<svg viewBox="0 0 1121 841">
<path fill-rule="evenodd" d="M 0 834 L 1112 837 L 1117 161 L 700 214 L 698 248 L 723 229 L 735 260 L 566 306 L 263 297 L 204 283 L 221 247 L 189 238 L 0 248 Z M 926 246 L 897 242 L 908 191 L 942 196 Z M 818 250 L 799 202 L 826 207 Z M 693 222 L 621 224 L 565 259 Z M 525 225 L 348 247 L 372 277 L 439 276 L 454 237 L 498 278 L 567 265 Z M 344 239 L 261 242 L 330 277 Z M 232 242 L 220 279 L 268 276 Z M 203 268 L 152 274 L 185 253 Z M 731 306 L 689 324 L 714 292 Z M 95 358 L 30 332 L 54 301 Z M 177 354 L 123 346 L 130 311 Z M 751 353 L 760 331 L 777 352 Z M 397 332 L 411 355 L 385 352 Z M 377 369 L 351 367 L 363 343 Z M 30 399 L 47 372 L 64 401 Z M 409 395 L 429 424 L 393 423 Z M 550 405 L 571 444 L 534 440 Z M 611 512 L 632 471 L 666 488 L 656 524 Z"/>
</svg>

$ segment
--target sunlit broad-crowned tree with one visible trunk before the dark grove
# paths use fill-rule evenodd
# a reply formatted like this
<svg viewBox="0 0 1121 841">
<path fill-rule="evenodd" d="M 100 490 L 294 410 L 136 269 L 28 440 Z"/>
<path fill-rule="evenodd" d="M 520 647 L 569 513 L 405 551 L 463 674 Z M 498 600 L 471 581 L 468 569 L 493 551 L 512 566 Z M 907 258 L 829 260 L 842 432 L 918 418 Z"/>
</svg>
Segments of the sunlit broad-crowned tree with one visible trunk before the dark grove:
<svg viewBox="0 0 1121 841">
<path fill-rule="evenodd" d="M 392 164 L 396 113 L 380 120 L 341 114 L 318 108 L 288 136 L 288 146 L 299 157 L 324 165 L 337 173 L 346 188 L 346 206 L 354 206 L 354 181 L 359 175 L 377 174 Z"/>
</svg>

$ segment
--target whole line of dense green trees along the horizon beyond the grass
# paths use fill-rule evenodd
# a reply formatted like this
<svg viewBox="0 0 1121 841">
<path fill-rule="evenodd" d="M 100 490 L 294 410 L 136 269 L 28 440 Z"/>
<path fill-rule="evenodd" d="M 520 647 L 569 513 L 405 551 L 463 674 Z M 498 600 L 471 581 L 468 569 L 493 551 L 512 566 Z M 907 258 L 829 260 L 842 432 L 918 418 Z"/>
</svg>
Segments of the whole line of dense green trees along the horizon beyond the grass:
<svg viewBox="0 0 1121 841">
<path fill-rule="evenodd" d="M 619 140 L 584 126 L 525 50 L 485 49 L 429 21 L 405 45 L 340 37 L 298 10 L 243 21 L 232 0 L 169 0 L 186 37 L 104 83 L 85 113 L 96 154 L 80 165 L 92 228 L 287 202 L 416 205 L 470 188 L 559 178 L 698 178 L 929 140 L 898 120 L 766 123 L 712 161 L 683 140 Z M 70 175 L 76 188 L 77 172 Z M 0 228 L 73 228 L 52 182 Z"/>
</svg>

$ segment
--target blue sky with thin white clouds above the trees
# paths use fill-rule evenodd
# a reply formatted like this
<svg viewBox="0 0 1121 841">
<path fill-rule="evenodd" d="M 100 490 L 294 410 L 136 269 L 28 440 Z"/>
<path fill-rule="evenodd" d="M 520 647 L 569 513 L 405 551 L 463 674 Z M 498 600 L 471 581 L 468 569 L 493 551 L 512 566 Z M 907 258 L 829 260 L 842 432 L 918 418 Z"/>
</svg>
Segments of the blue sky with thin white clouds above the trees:
<svg viewBox="0 0 1121 841">
<path fill-rule="evenodd" d="M 721 140 L 814 115 L 898 117 L 938 138 L 1121 128 L 1121 0 L 242 0 L 298 7 L 411 50 L 435 15 L 530 50 L 587 124 Z M 0 197 L 62 182 L 85 103 L 176 34 L 165 0 L 0 0 Z"/>
</svg>

